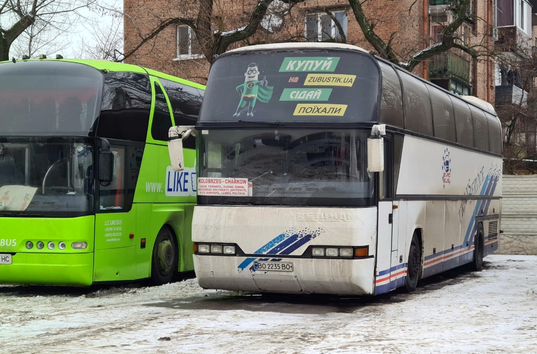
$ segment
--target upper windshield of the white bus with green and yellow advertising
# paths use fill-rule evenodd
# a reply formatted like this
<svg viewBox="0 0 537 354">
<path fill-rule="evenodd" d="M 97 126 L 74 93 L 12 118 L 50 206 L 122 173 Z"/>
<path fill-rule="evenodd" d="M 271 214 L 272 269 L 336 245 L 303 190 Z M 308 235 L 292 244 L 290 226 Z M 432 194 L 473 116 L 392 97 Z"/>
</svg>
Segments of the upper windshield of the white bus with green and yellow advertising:
<svg viewBox="0 0 537 354">
<path fill-rule="evenodd" d="M 223 55 L 211 67 L 199 122 L 378 122 L 379 77 L 361 52 Z"/>
</svg>

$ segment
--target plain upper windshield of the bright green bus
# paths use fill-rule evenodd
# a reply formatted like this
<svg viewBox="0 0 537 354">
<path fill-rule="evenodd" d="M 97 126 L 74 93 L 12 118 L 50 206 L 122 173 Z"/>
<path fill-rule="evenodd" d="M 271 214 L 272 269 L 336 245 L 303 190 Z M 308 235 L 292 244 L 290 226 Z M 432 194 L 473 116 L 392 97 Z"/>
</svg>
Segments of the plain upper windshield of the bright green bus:
<svg viewBox="0 0 537 354">
<path fill-rule="evenodd" d="M 99 115 L 103 74 L 77 63 L 0 65 L 2 135 L 88 136 Z"/>
</svg>

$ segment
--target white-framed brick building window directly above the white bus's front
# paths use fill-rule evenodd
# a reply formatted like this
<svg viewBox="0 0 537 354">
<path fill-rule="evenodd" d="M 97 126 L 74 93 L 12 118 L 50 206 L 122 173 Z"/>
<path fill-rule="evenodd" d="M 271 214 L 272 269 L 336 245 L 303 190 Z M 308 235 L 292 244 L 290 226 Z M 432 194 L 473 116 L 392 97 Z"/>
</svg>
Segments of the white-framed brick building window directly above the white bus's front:
<svg viewBox="0 0 537 354">
<path fill-rule="evenodd" d="M 346 36 L 347 14 L 345 11 L 334 11 L 332 14 L 341 25 Z M 308 42 L 324 42 L 330 39 L 341 40 L 341 34 L 330 16 L 325 12 L 307 14 L 306 40 Z"/>
</svg>

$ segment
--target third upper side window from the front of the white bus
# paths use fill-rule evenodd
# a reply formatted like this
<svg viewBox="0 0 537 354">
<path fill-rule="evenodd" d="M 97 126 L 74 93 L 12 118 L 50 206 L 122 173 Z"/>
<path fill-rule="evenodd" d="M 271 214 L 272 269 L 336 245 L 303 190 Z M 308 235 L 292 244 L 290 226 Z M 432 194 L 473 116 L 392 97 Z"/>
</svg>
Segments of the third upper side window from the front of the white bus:
<svg viewBox="0 0 537 354">
<path fill-rule="evenodd" d="M 432 85 L 427 88 L 433 106 L 434 136 L 455 142 L 455 116 L 449 94 Z"/>
</svg>

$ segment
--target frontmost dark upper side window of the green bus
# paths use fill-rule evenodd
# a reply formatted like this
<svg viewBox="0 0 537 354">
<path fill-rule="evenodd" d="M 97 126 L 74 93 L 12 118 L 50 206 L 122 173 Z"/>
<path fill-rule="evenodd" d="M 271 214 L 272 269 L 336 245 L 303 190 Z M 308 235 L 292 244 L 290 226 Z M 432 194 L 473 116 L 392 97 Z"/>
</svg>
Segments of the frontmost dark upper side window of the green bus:
<svg viewBox="0 0 537 354">
<path fill-rule="evenodd" d="M 145 142 L 150 110 L 151 84 L 147 75 L 133 72 L 107 73 L 97 135 Z"/>
</svg>

